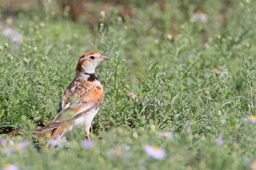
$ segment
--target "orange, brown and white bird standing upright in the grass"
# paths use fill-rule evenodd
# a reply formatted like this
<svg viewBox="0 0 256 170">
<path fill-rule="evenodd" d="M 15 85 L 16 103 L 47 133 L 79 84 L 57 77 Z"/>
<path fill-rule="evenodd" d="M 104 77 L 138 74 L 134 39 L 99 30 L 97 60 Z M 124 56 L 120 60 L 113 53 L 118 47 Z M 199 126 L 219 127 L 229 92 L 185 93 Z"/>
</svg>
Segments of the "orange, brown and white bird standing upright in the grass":
<svg viewBox="0 0 256 170">
<path fill-rule="evenodd" d="M 104 89 L 95 74 L 95 68 L 100 62 L 108 59 L 109 57 L 97 52 L 86 52 L 79 58 L 76 76 L 63 93 L 56 117 L 50 124 L 36 130 L 36 133 L 52 130 L 47 146 L 58 142 L 73 128 L 81 127 L 84 127 L 86 137 L 90 141 L 92 120 L 104 97 Z"/>
</svg>

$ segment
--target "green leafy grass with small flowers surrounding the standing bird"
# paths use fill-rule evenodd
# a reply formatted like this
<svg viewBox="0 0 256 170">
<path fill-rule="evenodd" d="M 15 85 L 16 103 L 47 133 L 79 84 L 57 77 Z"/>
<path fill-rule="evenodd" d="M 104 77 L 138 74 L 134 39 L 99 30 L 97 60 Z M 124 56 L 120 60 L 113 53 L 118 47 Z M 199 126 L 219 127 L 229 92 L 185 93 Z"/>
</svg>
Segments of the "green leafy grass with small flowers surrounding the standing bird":
<svg viewBox="0 0 256 170">
<path fill-rule="evenodd" d="M 161 11 L 158 3 L 133 1 L 134 17 L 123 21 L 113 8 L 93 29 L 52 15 L 51 3 L 22 11 L 13 24 L 4 21 L 0 138 L 30 144 L 12 153 L 16 145 L 0 144 L 0 167 L 250 169 L 256 124 L 246 120 L 256 115 L 256 3 L 171 2 Z M 207 14 L 206 23 L 191 22 L 195 10 Z M 24 43 L 4 36 L 5 27 L 19 31 Z M 89 51 L 111 58 L 97 67 L 105 95 L 93 120 L 93 148 L 83 148 L 80 129 L 68 134 L 67 146 L 49 150 L 32 132 L 56 116 L 79 57 Z M 147 145 L 162 148 L 164 159 L 147 155 Z"/>
</svg>

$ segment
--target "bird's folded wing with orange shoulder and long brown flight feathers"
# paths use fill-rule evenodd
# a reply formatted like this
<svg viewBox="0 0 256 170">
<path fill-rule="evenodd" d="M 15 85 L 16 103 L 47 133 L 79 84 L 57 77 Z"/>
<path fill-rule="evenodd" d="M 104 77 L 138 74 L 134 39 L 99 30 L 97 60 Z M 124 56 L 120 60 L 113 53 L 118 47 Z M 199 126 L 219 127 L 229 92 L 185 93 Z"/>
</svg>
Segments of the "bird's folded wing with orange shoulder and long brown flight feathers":
<svg viewBox="0 0 256 170">
<path fill-rule="evenodd" d="M 84 90 L 83 94 L 78 94 L 78 99 L 72 99 L 70 103 L 66 104 L 65 108 L 58 113 L 51 124 L 46 125 L 37 131 L 45 132 L 62 125 L 67 125 L 74 122 L 77 118 L 83 117 L 89 111 L 99 108 L 102 104 L 104 90 L 93 83 L 86 89 L 87 90 Z M 76 96 L 73 98 L 76 98 Z"/>
</svg>

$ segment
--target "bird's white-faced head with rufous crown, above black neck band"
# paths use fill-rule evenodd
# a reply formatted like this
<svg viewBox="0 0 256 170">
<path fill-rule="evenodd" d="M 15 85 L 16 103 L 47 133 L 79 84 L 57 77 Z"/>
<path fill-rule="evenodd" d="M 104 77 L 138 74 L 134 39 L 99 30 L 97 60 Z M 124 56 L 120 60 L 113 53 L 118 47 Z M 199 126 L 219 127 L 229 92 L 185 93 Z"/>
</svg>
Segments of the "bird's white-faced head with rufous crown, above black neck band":
<svg viewBox="0 0 256 170">
<path fill-rule="evenodd" d="M 82 55 L 77 63 L 76 74 L 88 73 L 92 74 L 95 72 L 95 68 L 98 64 L 104 60 L 108 60 L 109 57 L 100 55 L 97 52 L 86 52 Z"/>
</svg>

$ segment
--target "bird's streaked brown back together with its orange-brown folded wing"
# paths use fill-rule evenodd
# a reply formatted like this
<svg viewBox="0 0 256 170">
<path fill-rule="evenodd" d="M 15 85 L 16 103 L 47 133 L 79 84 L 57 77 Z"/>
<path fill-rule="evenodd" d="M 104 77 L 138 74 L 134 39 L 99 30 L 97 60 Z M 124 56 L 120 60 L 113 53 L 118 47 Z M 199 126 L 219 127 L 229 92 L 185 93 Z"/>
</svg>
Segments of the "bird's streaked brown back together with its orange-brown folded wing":
<svg viewBox="0 0 256 170">
<path fill-rule="evenodd" d="M 74 120 L 76 120 L 79 117 L 82 117 L 83 115 L 86 115 L 89 111 L 93 110 L 94 108 L 99 108 L 102 104 L 103 97 L 104 97 L 104 90 L 98 80 L 96 81 L 85 81 L 85 80 L 79 80 L 79 76 L 76 76 L 76 78 L 70 83 L 70 85 L 67 87 L 67 89 L 64 92 L 65 97 L 65 103 L 70 103 L 73 96 L 79 97 L 80 101 L 79 103 L 70 104 L 68 108 L 65 110 L 60 111 L 60 114 L 54 118 L 53 122 L 51 124 L 46 125 L 45 127 L 42 127 L 41 129 L 36 130 L 36 132 L 45 132 L 50 131 L 51 129 L 55 129 L 56 127 L 61 127 L 63 125 L 67 125 Z M 79 80 L 79 81 L 77 81 Z M 76 86 L 76 90 L 72 92 L 72 88 Z M 88 110 L 85 110 L 81 113 L 79 111 L 83 110 L 84 107 L 90 106 Z M 72 108 L 72 106 L 76 106 L 75 108 Z M 74 114 L 73 117 L 69 117 L 69 114 Z M 65 115 L 68 117 L 65 117 Z"/>
</svg>

